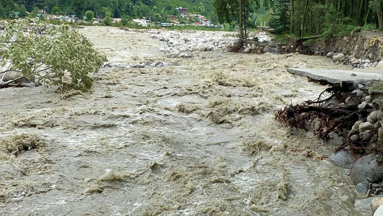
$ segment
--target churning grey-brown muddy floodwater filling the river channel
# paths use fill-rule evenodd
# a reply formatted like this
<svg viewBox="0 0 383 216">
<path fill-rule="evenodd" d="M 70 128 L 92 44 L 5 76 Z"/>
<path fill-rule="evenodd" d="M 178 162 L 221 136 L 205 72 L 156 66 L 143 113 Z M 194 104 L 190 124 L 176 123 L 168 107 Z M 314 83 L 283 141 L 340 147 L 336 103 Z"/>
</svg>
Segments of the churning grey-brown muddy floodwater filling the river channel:
<svg viewBox="0 0 383 216">
<path fill-rule="evenodd" d="M 306 156 L 340 140 L 273 119 L 326 88 L 286 67 L 347 67 L 300 54 L 168 59 L 146 32 L 79 31 L 112 63 L 181 66 L 100 69 L 88 94 L 1 89 L 1 142 L 33 145 L 0 153 L 0 215 L 368 215 L 349 170 Z"/>
</svg>

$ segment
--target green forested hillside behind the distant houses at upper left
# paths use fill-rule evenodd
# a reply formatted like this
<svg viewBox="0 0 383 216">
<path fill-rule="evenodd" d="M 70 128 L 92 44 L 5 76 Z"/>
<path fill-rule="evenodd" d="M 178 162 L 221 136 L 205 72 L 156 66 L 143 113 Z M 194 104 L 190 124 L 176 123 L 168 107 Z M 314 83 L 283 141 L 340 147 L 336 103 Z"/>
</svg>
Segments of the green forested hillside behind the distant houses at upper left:
<svg viewBox="0 0 383 216">
<path fill-rule="evenodd" d="M 87 10 L 105 16 L 150 17 L 156 15 L 175 15 L 175 8 L 187 7 L 190 13 L 200 13 L 209 16 L 214 11 L 213 0 L 0 0 L 0 16 L 15 10 L 14 3 L 25 5 L 28 12 L 35 7 L 46 8 L 48 13 L 62 13 L 82 16 Z M 155 7 L 154 7 L 155 6 Z M 17 7 L 17 6 L 16 6 Z M 52 9 L 59 7 L 59 11 Z"/>
</svg>

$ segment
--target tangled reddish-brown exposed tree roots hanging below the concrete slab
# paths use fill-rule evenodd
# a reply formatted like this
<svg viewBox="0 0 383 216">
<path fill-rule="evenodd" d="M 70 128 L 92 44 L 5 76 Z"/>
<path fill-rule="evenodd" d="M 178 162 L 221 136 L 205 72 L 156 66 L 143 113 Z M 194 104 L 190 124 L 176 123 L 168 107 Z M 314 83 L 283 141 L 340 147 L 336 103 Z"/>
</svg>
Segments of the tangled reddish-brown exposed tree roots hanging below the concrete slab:
<svg viewBox="0 0 383 216">
<path fill-rule="evenodd" d="M 331 93 L 331 96 L 321 100 L 321 96 L 325 92 Z M 340 92 L 342 92 L 340 87 L 329 87 L 314 101 L 305 101 L 295 106 L 291 104 L 289 107 L 279 110 L 275 114 L 275 119 L 291 129 L 309 131 L 309 128 L 313 128 L 312 131 L 318 139 L 329 140 L 333 138 L 334 134 L 345 137 L 344 142 L 335 152 L 339 152 L 347 146 L 355 149 L 363 148 L 365 143 L 354 143 L 347 139 L 347 132 L 360 116 L 365 115 L 364 112 L 368 114 L 369 110 L 358 109 L 358 102 L 347 105 L 344 103 L 331 104 L 333 99 L 345 101 L 345 98 L 350 96 L 342 96 Z M 356 98 L 356 100 L 361 99 Z"/>
</svg>

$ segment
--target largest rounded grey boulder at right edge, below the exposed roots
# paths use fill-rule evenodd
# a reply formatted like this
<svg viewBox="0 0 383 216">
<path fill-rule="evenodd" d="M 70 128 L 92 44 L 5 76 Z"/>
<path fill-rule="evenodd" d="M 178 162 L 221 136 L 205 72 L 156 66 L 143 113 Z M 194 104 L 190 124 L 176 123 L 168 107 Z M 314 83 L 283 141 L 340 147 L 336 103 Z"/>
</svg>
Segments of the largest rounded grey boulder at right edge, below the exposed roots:
<svg viewBox="0 0 383 216">
<path fill-rule="evenodd" d="M 378 155 L 371 153 L 359 158 L 352 167 L 350 178 L 354 185 L 358 183 L 377 182 L 383 178 L 383 164 L 376 161 Z"/>
</svg>

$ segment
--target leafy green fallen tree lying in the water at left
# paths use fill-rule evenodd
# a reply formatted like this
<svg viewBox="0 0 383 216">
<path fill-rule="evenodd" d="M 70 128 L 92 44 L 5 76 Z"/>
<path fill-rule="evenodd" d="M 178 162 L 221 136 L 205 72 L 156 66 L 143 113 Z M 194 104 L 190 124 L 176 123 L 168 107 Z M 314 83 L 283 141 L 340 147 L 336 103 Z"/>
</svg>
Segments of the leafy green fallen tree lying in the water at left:
<svg viewBox="0 0 383 216">
<path fill-rule="evenodd" d="M 61 91 L 89 90 L 93 82 L 89 74 L 97 72 L 106 57 L 68 25 L 44 26 L 45 31 L 36 25 L 34 19 L 18 19 L 0 31 L 0 87 L 20 86 L 15 82 L 36 77 Z M 3 82 L 11 71 L 20 76 Z"/>
</svg>

